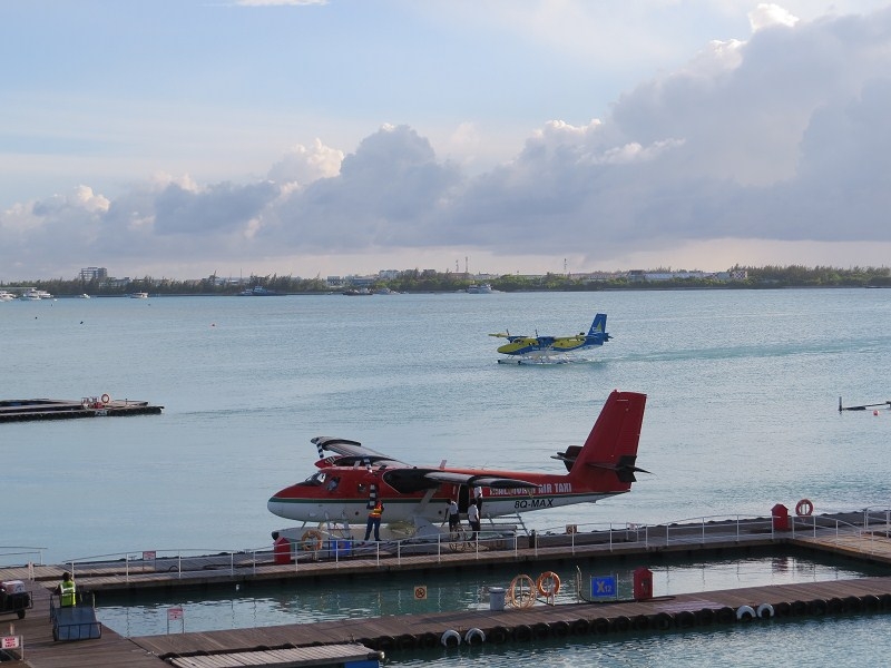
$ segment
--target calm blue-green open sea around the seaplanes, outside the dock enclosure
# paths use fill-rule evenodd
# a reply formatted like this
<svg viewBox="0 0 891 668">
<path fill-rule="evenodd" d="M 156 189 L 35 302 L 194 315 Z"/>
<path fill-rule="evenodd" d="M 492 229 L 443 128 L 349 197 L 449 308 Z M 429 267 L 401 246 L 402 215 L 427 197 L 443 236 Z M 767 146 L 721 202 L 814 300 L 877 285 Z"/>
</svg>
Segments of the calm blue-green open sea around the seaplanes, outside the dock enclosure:
<svg viewBox="0 0 891 668">
<path fill-rule="evenodd" d="M 496 363 L 488 333 L 569 334 L 595 312 L 614 340 L 590 363 Z M 11 302 L 0 342 L 2 399 L 108 393 L 165 406 L 0 425 L 0 543 L 46 547 L 48 561 L 267 546 L 284 520 L 266 500 L 313 471 L 320 434 L 419 464 L 558 471 L 550 455 L 584 440 L 613 389 L 649 396 L 638 465 L 653 475 L 597 505 L 527 514 L 530 527 L 764 515 L 804 497 L 816 512 L 891 502 L 891 412 L 838 411 L 839 396 L 891 399 L 889 291 Z M 884 618 L 863 618 L 653 637 L 634 651 L 616 641 L 502 654 L 656 665 L 711 656 L 719 638 L 754 662 L 774 632 L 801 633 L 804 651 L 819 646 L 804 637 L 839 633 L 850 647 L 852 635 L 887 631 Z"/>
</svg>

